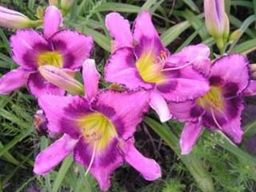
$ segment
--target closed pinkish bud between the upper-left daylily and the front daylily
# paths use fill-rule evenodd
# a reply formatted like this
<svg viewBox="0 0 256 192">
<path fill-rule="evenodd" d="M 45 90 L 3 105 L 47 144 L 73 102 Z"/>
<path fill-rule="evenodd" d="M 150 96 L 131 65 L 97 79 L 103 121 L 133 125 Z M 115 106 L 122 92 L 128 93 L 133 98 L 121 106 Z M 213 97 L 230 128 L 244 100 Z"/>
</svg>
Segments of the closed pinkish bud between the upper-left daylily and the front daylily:
<svg viewBox="0 0 256 192">
<path fill-rule="evenodd" d="M 55 66 L 40 66 L 39 72 L 48 82 L 66 90 L 70 94 L 84 94 L 81 82 L 71 77 L 64 69 L 59 69 Z"/>
</svg>

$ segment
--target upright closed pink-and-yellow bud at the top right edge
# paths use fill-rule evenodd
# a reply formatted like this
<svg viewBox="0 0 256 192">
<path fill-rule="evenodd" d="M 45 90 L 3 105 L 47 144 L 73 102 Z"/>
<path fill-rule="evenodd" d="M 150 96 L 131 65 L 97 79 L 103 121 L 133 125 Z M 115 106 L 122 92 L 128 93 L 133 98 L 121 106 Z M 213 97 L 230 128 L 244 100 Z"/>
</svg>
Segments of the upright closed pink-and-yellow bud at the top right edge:
<svg viewBox="0 0 256 192">
<path fill-rule="evenodd" d="M 227 39 L 230 22 L 225 13 L 224 0 L 204 0 L 206 28 L 214 38 Z"/>
</svg>

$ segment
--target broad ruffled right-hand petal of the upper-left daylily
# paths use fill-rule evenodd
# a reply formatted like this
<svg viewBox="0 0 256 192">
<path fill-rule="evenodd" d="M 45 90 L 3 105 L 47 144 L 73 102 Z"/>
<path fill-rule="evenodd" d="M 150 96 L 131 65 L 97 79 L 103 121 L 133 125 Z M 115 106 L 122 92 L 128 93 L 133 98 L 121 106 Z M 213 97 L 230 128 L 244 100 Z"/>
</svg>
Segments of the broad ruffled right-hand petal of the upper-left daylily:
<svg viewBox="0 0 256 192">
<path fill-rule="evenodd" d="M 93 38 L 71 30 L 62 30 L 49 41 L 54 50 L 62 54 L 63 67 L 71 70 L 81 67 L 86 58 L 90 57 L 93 48 Z"/>
</svg>

